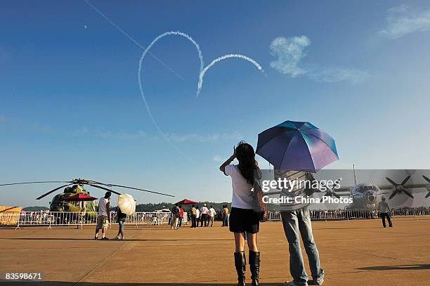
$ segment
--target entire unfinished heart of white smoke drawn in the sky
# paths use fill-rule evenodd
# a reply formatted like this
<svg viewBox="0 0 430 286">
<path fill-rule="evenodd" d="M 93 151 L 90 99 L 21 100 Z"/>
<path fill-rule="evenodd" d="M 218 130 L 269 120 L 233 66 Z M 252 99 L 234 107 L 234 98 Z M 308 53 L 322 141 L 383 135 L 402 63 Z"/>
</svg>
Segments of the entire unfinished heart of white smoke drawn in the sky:
<svg viewBox="0 0 430 286">
<path fill-rule="evenodd" d="M 185 34 L 183 32 L 179 32 L 179 31 L 176 31 L 176 32 L 174 32 L 174 31 L 164 32 L 163 34 L 160 34 L 155 39 L 153 39 L 151 41 L 150 45 L 147 48 L 145 48 L 145 50 L 142 53 L 141 59 L 139 60 L 139 68 L 138 68 L 138 84 L 139 84 L 139 89 L 141 91 L 141 96 L 142 96 L 142 99 L 143 99 L 143 103 L 145 103 L 145 108 L 148 111 L 148 115 L 149 115 L 149 117 L 150 117 L 150 119 L 152 121 L 152 124 L 154 124 L 155 128 L 157 129 L 157 131 L 159 131 L 159 134 L 161 134 L 163 136 L 163 138 L 167 142 L 169 142 L 169 144 L 176 151 L 178 151 L 181 155 L 183 155 L 183 157 L 185 157 L 188 160 L 190 160 L 190 158 L 187 155 L 183 154 L 183 152 L 181 150 L 179 150 L 179 148 L 173 142 L 171 142 L 171 140 L 169 139 L 169 137 L 166 134 L 164 134 L 164 132 L 162 131 L 162 129 L 159 127 L 159 125 L 157 124 L 157 121 L 155 120 L 154 116 L 152 115 L 152 112 L 150 110 L 150 106 L 148 105 L 148 101 L 146 100 L 146 97 L 145 97 L 145 92 L 143 91 L 143 84 L 142 84 L 142 77 L 141 77 L 142 66 L 143 66 L 143 59 L 148 54 L 150 48 L 152 48 L 152 46 L 157 41 L 159 41 L 159 39 L 162 39 L 162 38 L 167 37 L 167 36 L 180 36 L 180 37 L 184 37 L 185 39 L 188 39 L 188 41 L 191 41 L 191 43 L 193 43 L 193 45 L 197 49 L 197 53 L 198 53 L 198 56 L 199 56 L 199 59 L 200 59 L 200 74 L 199 74 L 199 82 L 197 83 L 197 97 L 199 96 L 200 91 L 202 90 L 204 74 L 207 72 L 207 70 L 209 70 L 216 63 L 221 62 L 221 60 L 226 60 L 228 58 L 240 58 L 242 60 L 247 60 L 249 63 L 252 63 L 261 72 L 264 72 L 264 71 L 263 71 L 263 68 L 261 67 L 261 65 L 259 65 L 259 63 L 256 62 L 256 60 L 253 60 L 252 58 L 249 58 L 247 56 L 243 56 L 243 55 L 240 55 L 240 54 L 237 54 L 237 53 L 231 53 L 231 54 L 228 54 L 228 55 L 216 58 L 215 60 L 212 60 L 212 62 L 209 65 L 207 65 L 207 67 L 204 67 L 204 61 L 203 61 L 202 51 L 200 50 L 199 44 L 197 44 L 197 42 L 194 41 L 194 39 L 192 37 L 190 37 L 188 34 Z M 191 161 L 193 161 L 193 160 L 191 160 Z"/>
</svg>

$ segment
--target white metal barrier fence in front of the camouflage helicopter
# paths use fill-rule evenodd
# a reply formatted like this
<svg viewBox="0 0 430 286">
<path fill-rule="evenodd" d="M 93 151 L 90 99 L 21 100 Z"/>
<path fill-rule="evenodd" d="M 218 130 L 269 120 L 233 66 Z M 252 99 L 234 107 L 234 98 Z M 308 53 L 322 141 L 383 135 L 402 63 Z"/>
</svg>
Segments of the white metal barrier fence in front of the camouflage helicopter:
<svg viewBox="0 0 430 286">
<path fill-rule="evenodd" d="M 136 212 L 127 216 L 125 224 L 160 225 L 169 223 L 171 213 L 169 212 Z M 26 212 L 26 213 L 3 213 L 0 216 L 0 225 L 6 226 L 86 226 L 96 225 L 96 212 Z M 117 214 L 110 213 L 110 225 L 117 223 Z"/>
</svg>

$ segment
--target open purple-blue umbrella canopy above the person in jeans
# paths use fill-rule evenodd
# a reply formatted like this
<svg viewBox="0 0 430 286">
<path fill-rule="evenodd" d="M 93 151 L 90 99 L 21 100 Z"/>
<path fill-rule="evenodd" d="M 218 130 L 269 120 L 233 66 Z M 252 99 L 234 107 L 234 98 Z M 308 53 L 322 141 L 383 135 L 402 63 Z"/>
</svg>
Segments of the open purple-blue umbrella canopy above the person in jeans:
<svg viewBox="0 0 430 286">
<path fill-rule="evenodd" d="M 309 122 L 286 121 L 261 132 L 256 153 L 284 170 L 315 172 L 339 160 L 334 139 Z"/>
</svg>

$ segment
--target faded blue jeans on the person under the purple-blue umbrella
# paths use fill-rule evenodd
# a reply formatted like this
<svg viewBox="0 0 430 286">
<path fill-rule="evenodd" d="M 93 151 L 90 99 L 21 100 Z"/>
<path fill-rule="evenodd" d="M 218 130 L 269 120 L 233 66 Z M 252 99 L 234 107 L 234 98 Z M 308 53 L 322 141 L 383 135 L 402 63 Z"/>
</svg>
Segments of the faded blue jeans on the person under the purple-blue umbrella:
<svg viewBox="0 0 430 286">
<path fill-rule="evenodd" d="M 322 282 L 324 271 L 320 266 L 320 255 L 313 240 L 311 217 L 309 210 L 305 207 L 294 211 L 281 212 L 282 224 L 289 245 L 289 273 L 297 285 L 306 285 L 308 275 L 304 268 L 303 256 L 301 255 L 300 238 L 308 255 L 309 267 L 315 282 Z"/>
</svg>

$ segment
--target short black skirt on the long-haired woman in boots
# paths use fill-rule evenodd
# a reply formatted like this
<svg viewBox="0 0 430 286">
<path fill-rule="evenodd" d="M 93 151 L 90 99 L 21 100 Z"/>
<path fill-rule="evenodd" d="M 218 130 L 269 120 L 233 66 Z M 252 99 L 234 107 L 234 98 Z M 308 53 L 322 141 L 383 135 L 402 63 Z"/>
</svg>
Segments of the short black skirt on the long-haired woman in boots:
<svg viewBox="0 0 430 286">
<path fill-rule="evenodd" d="M 232 233 L 258 233 L 260 227 L 259 216 L 254 209 L 239 209 L 232 207 L 230 212 L 230 231 Z"/>
</svg>

